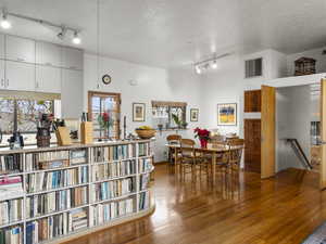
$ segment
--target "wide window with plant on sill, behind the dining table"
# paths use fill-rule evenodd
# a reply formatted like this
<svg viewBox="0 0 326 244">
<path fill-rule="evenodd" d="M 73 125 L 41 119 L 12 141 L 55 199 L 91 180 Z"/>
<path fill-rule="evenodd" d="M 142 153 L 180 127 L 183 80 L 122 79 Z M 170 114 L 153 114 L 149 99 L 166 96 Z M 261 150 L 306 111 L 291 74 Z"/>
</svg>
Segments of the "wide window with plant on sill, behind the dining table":
<svg viewBox="0 0 326 244">
<path fill-rule="evenodd" d="M 187 103 L 152 101 L 152 121 L 155 129 L 186 128 Z M 173 117 L 177 117 L 181 125 L 177 125 Z"/>
</svg>

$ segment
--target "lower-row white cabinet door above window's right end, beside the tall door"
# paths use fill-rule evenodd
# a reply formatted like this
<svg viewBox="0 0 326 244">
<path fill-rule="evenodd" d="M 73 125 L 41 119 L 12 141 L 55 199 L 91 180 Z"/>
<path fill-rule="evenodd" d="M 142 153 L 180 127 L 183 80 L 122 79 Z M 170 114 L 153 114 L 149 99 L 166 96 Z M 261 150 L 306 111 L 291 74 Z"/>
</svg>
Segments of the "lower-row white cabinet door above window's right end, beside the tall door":
<svg viewBox="0 0 326 244">
<path fill-rule="evenodd" d="M 43 65 L 36 66 L 36 91 L 60 93 L 61 68 Z"/>
</svg>

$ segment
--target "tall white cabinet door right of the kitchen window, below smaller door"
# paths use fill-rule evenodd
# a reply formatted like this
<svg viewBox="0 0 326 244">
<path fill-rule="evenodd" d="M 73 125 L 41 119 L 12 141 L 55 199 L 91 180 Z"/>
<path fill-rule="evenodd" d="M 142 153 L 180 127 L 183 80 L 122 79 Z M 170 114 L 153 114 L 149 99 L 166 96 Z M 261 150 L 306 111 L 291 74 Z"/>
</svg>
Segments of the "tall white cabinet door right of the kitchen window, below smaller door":
<svg viewBox="0 0 326 244">
<path fill-rule="evenodd" d="M 83 72 L 62 69 L 61 104 L 63 118 L 79 118 L 83 112 Z"/>
</svg>

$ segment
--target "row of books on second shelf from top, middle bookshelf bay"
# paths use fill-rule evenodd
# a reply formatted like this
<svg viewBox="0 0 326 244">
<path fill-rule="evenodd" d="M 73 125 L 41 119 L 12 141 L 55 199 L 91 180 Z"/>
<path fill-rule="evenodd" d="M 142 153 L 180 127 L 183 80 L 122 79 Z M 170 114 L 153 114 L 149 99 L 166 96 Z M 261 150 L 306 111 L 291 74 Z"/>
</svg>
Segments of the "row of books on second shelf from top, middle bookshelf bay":
<svg viewBox="0 0 326 244">
<path fill-rule="evenodd" d="M 88 166 L 42 171 L 27 175 L 26 191 L 28 193 L 52 190 L 88 182 Z"/>
</svg>

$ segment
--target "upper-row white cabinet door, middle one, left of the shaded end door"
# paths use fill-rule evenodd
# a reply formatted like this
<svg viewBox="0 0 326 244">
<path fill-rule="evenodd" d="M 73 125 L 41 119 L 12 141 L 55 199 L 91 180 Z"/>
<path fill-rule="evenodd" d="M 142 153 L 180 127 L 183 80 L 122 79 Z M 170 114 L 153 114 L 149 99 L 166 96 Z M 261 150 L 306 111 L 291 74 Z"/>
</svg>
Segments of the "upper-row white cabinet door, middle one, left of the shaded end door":
<svg viewBox="0 0 326 244">
<path fill-rule="evenodd" d="M 36 63 L 47 66 L 61 67 L 61 47 L 49 42 L 36 42 Z"/>
</svg>

